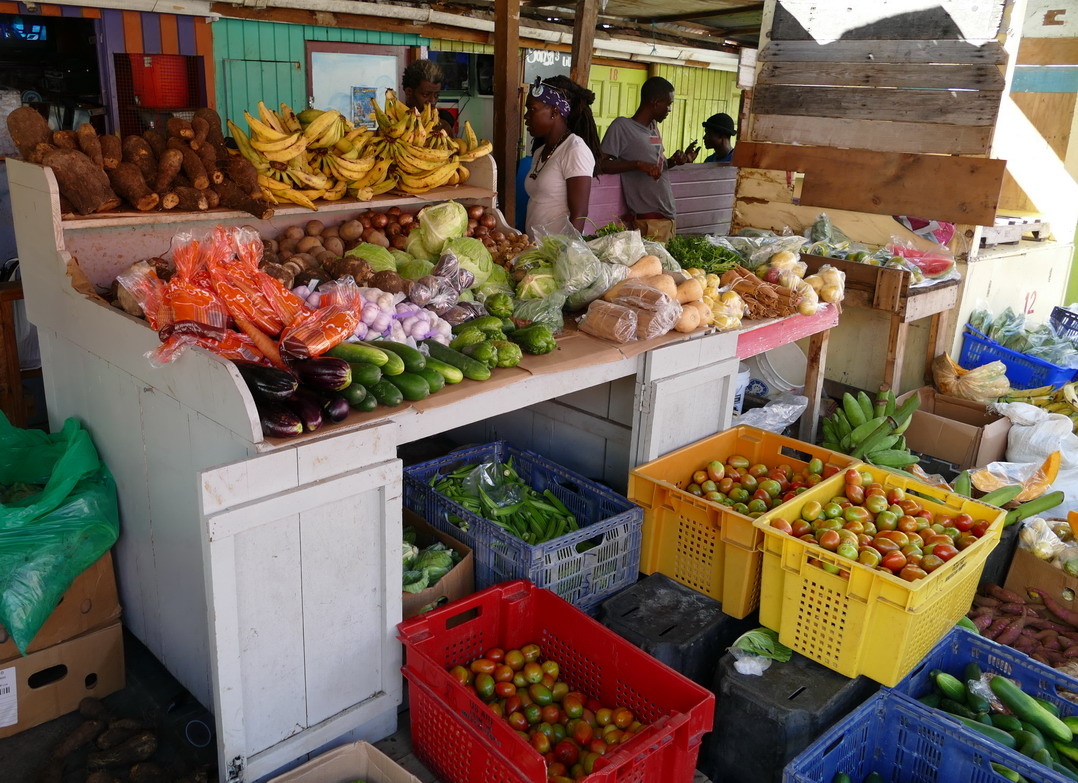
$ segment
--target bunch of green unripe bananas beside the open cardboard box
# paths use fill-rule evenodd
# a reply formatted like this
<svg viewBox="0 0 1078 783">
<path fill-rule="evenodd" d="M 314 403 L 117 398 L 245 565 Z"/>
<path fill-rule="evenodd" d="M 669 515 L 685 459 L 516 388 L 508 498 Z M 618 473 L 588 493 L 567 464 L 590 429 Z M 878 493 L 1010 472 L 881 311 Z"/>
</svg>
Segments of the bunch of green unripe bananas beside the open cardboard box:
<svg viewBox="0 0 1078 783">
<path fill-rule="evenodd" d="M 904 468 L 918 462 L 906 445 L 906 432 L 921 399 L 914 395 L 898 407 L 895 393 L 881 388 L 875 402 L 858 392 L 842 396 L 842 404 L 823 421 L 824 448 L 863 458 L 872 465 Z"/>
</svg>

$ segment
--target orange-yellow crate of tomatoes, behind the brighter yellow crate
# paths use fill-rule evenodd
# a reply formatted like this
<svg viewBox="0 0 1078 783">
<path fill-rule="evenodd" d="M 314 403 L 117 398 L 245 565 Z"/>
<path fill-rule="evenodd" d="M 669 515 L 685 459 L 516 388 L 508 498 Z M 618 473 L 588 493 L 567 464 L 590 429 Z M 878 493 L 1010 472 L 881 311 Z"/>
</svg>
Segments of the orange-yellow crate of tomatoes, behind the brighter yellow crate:
<svg viewBox="0 0 1078 783">
<path fill-rule="evenodd" d="M 665 574 L 719 601 L 724 614 L 742 618 L 760 603 L 762 534 L 749 517 L 686 491 L 694 471 L 734 454 L 770 467 L 789 464 L 794 470 L 813 458 L 840 469 L 857 461 L 756 427 L 732 427 L 630 472 L 628 499 L 644 508 L 640 571 Z"/>
</svg>

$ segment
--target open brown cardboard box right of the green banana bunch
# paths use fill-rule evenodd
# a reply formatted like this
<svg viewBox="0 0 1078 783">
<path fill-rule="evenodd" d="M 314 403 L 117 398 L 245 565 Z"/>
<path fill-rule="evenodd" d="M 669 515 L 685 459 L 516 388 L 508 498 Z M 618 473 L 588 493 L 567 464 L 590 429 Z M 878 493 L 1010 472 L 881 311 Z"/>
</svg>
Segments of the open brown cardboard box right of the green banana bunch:
<svg viewBox="0 0 1078 783">
<path fill-rule="evenodd" d="M 1006 458 L 1010 420 L 973 402 L 940 394 L 931 386 L 907 392 L 898 398 L 921 397 L 906 442 L 912 451 L 927 454 L 959 468 L 983 467 Z"/>
</svg>

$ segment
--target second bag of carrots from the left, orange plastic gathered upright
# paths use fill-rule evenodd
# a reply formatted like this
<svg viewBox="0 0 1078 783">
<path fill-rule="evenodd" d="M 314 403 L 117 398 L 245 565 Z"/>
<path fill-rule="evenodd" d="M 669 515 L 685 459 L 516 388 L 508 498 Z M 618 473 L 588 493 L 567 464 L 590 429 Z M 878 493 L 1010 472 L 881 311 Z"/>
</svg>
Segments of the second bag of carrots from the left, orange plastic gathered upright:
<svg viewBox="0 0 1078 783">
<path fill-rule="evenodd" d="M 199 256 L 201 244 L 190 234 L 177 237 L 179 244 L 172 251 L 176 274 L 168 281 L 167 303 L 172 322 L 160 329 L 162 340 L 174 333 L 197 334 L 221 340 L 229 326 L 229 310 L 218 299 L 211 287 L 199 285 L 209 275 Z"/>
</svg>

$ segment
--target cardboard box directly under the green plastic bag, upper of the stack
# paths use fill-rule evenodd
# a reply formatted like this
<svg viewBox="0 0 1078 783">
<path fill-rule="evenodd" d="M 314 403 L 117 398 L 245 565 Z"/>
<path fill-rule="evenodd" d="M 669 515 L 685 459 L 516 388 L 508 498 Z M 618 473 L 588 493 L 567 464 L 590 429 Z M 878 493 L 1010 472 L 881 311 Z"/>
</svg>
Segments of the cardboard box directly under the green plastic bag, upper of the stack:
<svg viewBox="0 0 1078 783">
<path fill-rule="evenodd" d="M 120 597 L 116 595 L 112 553 L 106 552 L 75 577 L 26 651 L 37 652 L 119 621 Z M 0 661 L 18 654 L 8 631 L 0 626 Z"/>
</svg>

